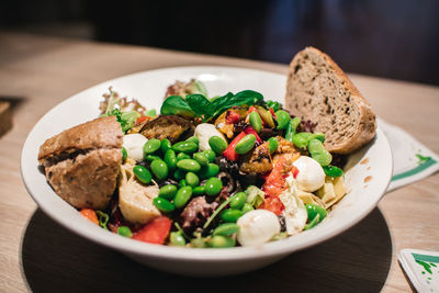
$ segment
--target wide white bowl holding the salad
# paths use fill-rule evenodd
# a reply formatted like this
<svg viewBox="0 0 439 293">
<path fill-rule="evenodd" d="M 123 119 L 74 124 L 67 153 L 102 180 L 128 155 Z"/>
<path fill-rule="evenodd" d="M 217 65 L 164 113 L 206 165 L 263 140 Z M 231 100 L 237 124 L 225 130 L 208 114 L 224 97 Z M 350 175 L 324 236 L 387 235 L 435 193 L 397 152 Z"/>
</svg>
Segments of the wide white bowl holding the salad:
<svg viewBox="0 0 439 293">
<path fill-rule="evenodd" d="M 97 117 L 102 93 L 109 87 L 122 95 L 138 99 L 148 109 L 159 110 L 167 87 L 175 80 L 189 81 L 191 78 L 203 81 L 210 95 L 251 89 L 261 92 L 266 99 L 280 102 L 283 102 L 286 80 L 283 75 L 254 69 L 179 67 L 116 78 L 75 94 L 47 112 L 36 123 L 23 146 L 22 178 L 38 206 L 78 236 L 114 248 L 146 266 L 185 275 L 226 275 L 261 268 L 342 233 L 376 206 L 392 177 L 391 148 L 380 128 L 372 143 L 350 156 L 350 167 L 346 171 L 349 192 L 325 221 L 313 229 L 260 247 L 188 249 L 136 241 L 91 224 L 56 195 L 37 168 L 38 148 L 45 139 Z"/>
</svg>

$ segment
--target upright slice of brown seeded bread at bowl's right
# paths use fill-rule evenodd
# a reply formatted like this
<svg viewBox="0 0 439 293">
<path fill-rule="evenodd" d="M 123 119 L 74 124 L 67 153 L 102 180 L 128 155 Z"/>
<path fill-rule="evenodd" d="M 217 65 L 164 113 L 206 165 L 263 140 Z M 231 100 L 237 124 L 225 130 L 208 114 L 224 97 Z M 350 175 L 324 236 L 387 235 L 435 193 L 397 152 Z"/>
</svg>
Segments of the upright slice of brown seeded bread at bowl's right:
<svg viewBox="0 0 439 293">
<path fill-rule="evenodd" d="M 290 64 L 285 108 L 316 123 L 325 147 L 350 154 L 375 136 L 375 115 L 368 101 L 326 54 L 314 47 L 299 52 Z"/>
</svg>

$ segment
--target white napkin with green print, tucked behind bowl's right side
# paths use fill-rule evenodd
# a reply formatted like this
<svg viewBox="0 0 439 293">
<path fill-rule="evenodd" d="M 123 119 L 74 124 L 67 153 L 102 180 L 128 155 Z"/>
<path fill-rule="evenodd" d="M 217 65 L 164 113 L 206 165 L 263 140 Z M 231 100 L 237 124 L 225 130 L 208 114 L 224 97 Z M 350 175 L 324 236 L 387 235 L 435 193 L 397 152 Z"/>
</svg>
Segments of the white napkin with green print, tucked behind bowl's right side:
<svg viewBox="0 0 439 293">
<path fill-rule="evenodd" d="M 393 177 L 387 191 L 413 183 L 439 170 L 439 156 L 402 128 L 379 119 L 393 154 Z"/>
</svg>

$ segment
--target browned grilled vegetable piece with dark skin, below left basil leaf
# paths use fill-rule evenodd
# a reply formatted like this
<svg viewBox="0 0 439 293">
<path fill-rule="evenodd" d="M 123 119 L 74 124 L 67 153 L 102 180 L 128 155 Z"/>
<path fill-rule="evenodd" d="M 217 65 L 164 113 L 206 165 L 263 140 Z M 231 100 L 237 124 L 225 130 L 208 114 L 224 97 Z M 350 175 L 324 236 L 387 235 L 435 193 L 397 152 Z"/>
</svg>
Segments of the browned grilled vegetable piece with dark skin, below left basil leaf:
<svg viewBox="0 0 439 293">
<path fill-rule="evenodd" d="M 139 131 L 146 138 L 168 138 L 171 143 L 184 139 L 193 135 L 195 127 L 182 117 L 175 115 L 159 115 L 147 122 Z"/>
</svg>

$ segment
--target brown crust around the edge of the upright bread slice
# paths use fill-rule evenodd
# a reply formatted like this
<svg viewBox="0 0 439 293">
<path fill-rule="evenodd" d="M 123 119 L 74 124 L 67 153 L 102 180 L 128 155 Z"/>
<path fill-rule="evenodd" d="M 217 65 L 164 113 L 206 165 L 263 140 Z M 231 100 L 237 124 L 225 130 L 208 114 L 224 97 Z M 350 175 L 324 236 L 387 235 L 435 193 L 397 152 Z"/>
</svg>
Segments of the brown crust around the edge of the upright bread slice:
<svg viewBox="0 0 439 293">
<path fill-rule="evenodd" d="M 352 108 L 357 106 L 359 111 L 358 117 L 353 117 L 352 115 L 349 115 L 349 117 L 347 117 L 350 121 L 346 123 L 352 124 L 356 127 L 353 131 L 350 132 L 349 137 L 344 137 L 344 139 L 341 140 L 338 139 L 340 142 L 335 143 L 328 139 L 330 143 L 325 143 L 325 147 L 330 153 L 344 155 L 350 154 L 361 148 L 375 136 L 375 115 L 372 112 L 369 102 L 359 92 L 357 87 L 350 81 L 350 79 L 346 76 L 341 68 L 328 55 L 322 53 L 319 49 L 314 47 L 306 47 L 305 49 L 297 53 L 292 59 L 286 82 L 285 106 L 292 112 L 292 114 L 300 116 L 303 120 L 309 120 L 309 116 L 312 116 L 311 113 L 304 113 L 303 109 L 297 109 L 297 106 L 294 106 L 294 104 L 297 104 L 296 101 L 300 101 L 304 98 L 297 97 L 297 94 L 294 92 L 294 89 L 299 86 L 295 81 L 295 77 L 297 75 L 297 66 L 300 66 L 300 61 L 303 60 L 305 56 L 308 56 L 307 58 L 311 58 L 309 56 L 317 56 L 328 66 L 328 68 L 330 68 L 331 74 L 336 76 L 337 82 L 341 84 L 341 87 L 346 91 L 349 92 L 350 103 Z M 331 115 L 334 115 L 334 113 Z M 313 116 L 313 119 L 316 117 L 323 119 L 318 115 Z M 320 128 L 324 124 L 323 121 L 312 120 L 312 122 L 317 123 L 317 132 L 322 131 Z"/>
</svg>

